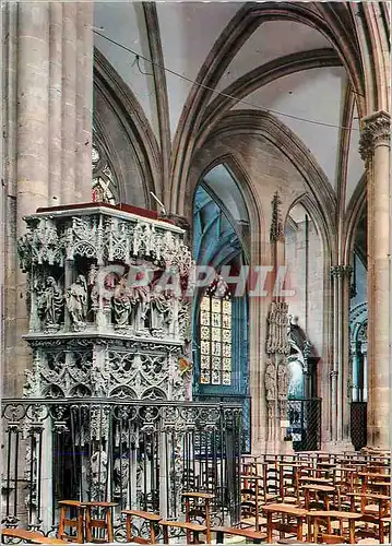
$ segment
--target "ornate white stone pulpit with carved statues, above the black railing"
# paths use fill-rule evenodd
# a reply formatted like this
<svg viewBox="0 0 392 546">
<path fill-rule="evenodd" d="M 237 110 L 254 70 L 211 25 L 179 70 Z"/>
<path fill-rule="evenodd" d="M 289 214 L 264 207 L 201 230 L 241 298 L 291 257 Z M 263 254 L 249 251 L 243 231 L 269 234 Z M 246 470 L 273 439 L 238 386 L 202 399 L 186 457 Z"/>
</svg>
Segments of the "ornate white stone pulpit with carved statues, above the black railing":
<svg viewBox="0 0 392 546">
<path fill-rule="evenodd" d="M 24 219 L 25 395 L 189 399 L 186 232 L 127 205 L 40 209 Z"/>
</svg>

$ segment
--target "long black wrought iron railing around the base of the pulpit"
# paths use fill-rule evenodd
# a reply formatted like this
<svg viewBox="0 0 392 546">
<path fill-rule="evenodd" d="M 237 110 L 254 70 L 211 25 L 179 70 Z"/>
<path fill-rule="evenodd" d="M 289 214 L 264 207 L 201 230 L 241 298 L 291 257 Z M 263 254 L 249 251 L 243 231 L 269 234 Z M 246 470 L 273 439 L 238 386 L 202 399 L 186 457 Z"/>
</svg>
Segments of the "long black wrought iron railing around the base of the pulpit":
<svg viewBox="0 0 392 546">
<path fill-rule="evenodd" d="M 112 500 L 181 519 L 181 492 L 215 495 L 213 520 L 236 522 L 241 407 L 202 402 L 2 401 L 2 519 L 55 534 L 58 501 Z"/>
</svg>

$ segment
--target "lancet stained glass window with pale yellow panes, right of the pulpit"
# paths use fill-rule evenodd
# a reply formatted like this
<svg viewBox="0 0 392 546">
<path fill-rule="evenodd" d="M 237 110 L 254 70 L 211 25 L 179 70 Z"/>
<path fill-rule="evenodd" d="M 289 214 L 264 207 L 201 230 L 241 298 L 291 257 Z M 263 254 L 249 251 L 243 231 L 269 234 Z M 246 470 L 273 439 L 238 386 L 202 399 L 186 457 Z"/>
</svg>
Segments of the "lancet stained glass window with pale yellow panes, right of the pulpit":
<svg viewBox="0 0 392 546">
<path fill-rule="evenodd" d="M 200 382 L 231 384 L 231 299 L 222 278 L 200 304 Z"/>
</svg>

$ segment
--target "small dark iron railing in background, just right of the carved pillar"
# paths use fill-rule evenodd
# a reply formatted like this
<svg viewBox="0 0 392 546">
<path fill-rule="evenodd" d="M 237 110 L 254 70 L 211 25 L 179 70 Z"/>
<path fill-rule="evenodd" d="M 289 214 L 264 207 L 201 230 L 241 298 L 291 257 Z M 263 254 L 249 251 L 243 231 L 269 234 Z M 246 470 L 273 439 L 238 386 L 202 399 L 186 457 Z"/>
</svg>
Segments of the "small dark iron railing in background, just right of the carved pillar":
<svg viewBox="0 0 392 546">
<path fill-rule="evenodd" d="M 321 448 L 321 399 L 287 401 L 287 435 L 295 451 L 318 451 Z"/>
</svg>

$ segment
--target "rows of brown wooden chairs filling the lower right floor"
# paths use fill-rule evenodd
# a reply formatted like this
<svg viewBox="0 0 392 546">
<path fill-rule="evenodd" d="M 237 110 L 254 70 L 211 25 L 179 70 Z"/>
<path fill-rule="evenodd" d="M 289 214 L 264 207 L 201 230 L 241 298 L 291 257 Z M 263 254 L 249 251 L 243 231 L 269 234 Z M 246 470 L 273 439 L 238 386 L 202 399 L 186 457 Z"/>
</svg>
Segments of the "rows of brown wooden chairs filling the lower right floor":
<svg viewBox="0 0 392 546">
<path fill-rule="evenodd" d="M 391 532 L 389 468 L 390 456 L 380 453 L 366 458 L 326 453 L 243 458 L 240 525 L 257 531 L 265 526 L 268 542 L 272 541 L 272 530 L 278 531 L 280 538 L 284 539 L 284 532 L 293 534 L 295 525 L 290 522 L 294 512 L 299 510 L 297 529 L 301 529 L 299 521 L 305 511 L 311 529 L 322 527 L 326 522 L 320 534 L 326 542 L 353 543 L 354 536 L 376 536 L 383 543 L 385 529 Z M 280 514 L 275 513 L 274 520 L 269 507 Z M 324 520 L 319 521 L 320 509 Z M 335 524 L 331 520 L 336 520 Z M 346 524 L 347 535 L 343 535 Z M 311 533 L 308 531 L 308 535 Z M 319 538 L 318 530 L 314 533 Z"/>
</svg>

